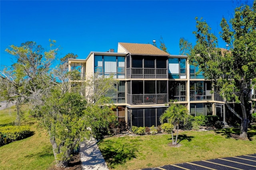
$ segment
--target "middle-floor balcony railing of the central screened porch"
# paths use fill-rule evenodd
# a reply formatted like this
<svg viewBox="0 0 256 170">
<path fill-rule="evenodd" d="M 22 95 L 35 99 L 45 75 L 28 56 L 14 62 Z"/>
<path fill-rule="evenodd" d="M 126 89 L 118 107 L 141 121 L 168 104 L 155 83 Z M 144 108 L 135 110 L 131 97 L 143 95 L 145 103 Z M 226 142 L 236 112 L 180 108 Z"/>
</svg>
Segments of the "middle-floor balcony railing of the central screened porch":
<svg viewBox="0 0 256 170">
<path fill-rule="evenodd" d="M 127 94 L 127 102 L 132 105 L 152 105 L 168 103 L 167 94 Z"/>
</svg>

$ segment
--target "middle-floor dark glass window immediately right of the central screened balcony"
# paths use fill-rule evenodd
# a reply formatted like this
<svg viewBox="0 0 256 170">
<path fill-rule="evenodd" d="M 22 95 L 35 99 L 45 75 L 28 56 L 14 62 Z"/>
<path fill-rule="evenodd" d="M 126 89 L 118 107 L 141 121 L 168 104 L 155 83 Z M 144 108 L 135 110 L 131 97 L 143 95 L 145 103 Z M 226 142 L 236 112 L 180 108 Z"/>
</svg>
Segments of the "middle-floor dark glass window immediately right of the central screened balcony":
<svg viewBox="0 0 256 170">
<path fill-rule="evenodd" d="M 169 99 L 186 101 L 186 81 L 169 81 Z"/>
</svg>

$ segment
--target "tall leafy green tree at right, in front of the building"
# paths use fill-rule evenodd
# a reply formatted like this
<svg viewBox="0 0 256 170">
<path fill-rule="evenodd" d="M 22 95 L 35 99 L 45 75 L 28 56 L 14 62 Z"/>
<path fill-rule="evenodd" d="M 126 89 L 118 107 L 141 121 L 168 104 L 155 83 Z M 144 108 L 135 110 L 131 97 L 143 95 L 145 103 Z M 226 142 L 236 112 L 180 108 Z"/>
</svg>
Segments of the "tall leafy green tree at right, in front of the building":
<svg viewBox="0 0 256 170">
<path fill-rule="evenodd" d="M 218 48 L 218 40 L 211 28 L 196 18 L 196 45 L 191 50 L 189 61 L 198 65 L 206 79 L 223 97 L 228 109 L 241 119 L 240 138 L 247 138 L 247 129 L 252 112 L 250 93 L 256 84 L 256 1 L 252 7 L 242 5 L 235 9 L 234 18 L 220 23 L 221 38 L 227 49 Z M 238 103 L 241 112 L 230 103 Z"/>
</svg>

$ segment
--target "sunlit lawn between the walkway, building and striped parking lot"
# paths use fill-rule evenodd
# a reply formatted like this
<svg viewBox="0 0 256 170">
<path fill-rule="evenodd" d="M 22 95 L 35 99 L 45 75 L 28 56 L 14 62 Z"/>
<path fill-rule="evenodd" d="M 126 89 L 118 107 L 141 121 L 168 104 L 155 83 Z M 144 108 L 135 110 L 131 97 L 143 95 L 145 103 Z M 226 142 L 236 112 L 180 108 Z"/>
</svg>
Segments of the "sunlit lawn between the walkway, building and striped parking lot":
<svg viewBox="0 0 256 170">
<path fill-rule="evenodd" d="M 134 170 L 168 164 L 208 160 L 256 153 L 256 126 L 249 128 L 250 140 L 236 140 L 239 129 L 184 131 L 180 147 L 170 147 L 170 134 L 110 137 L 98 146 L 110 169 Z"/>
</svg>

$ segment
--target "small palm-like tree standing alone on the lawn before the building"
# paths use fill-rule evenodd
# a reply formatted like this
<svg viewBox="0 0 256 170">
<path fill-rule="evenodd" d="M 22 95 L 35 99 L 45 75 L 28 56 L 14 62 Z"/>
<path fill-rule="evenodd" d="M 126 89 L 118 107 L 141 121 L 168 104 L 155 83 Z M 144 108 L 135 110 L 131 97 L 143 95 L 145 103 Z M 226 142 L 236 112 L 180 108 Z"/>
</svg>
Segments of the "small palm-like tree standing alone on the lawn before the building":
<svg viewBox="0 0 256 170">
<path fill-rule="evenodd" d="M 181 122 L 184 123 L 184 125 L 186 125 L 187 121 L 188 121 L 188 109 L 186 108 L 186 106 L 180 104 L 180 103 L 176 103 L 176 101 L 170 101 L 170 105 L 169 107 L 166 109 L 166 111 L 164 111 L 164 113 L 160 116 L 159 120 L 160 123 L 163 124 L 165 120 L 168 121 L 168 123 L 174 128 L 177 128 L 177 132 L 176 132 L 176 139 L 174 141 L 173 138 L 173 132 L 172 132 L 172 144 L 177 144 L 177 140 L 178 140 L 178 132 L 179 132 L 179 125 Z"/>
</svg>

